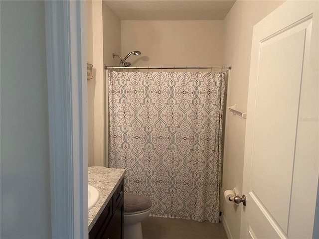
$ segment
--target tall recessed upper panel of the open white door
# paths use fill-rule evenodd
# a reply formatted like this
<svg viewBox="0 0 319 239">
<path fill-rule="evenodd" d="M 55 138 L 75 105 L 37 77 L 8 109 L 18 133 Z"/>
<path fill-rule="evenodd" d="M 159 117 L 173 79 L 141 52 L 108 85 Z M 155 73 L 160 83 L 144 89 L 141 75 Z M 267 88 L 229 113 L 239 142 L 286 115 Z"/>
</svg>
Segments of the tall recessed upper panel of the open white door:
<svg viewBox="0 0 319 239">
<path fill-rule="evenodd" d="M 260 48 L 251 191 L 287 233 L 305 29 L 282 34 Z"/>
</svg>

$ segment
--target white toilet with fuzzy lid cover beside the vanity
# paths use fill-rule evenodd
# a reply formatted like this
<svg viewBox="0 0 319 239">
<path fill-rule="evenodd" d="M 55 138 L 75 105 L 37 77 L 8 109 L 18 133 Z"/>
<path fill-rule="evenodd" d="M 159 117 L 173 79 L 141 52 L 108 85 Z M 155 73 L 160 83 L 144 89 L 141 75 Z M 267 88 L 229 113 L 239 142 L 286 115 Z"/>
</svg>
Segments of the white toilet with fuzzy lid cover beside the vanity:
<svg viewBox="0 0 319 239">
<path fill-rule="evenodd" d="M 124 239 L 143 239 L 141 222 L 152 211 L 152 201 L 141 195 L 124 194 Z"/>
</svg>

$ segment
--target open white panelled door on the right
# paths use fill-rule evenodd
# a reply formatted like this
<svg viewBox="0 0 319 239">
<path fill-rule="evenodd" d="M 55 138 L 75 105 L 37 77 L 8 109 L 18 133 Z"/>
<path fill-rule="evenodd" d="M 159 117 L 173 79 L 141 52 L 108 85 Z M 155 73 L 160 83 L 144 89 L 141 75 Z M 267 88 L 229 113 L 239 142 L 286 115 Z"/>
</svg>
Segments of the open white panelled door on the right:
<svg viewBox="0 0 319 239">
<path fill-rule="evenodd" d="M 241 238 L 312 238 L 319 175 L 318 3 L 287 1 L 254 26 Z"/>
</svg>

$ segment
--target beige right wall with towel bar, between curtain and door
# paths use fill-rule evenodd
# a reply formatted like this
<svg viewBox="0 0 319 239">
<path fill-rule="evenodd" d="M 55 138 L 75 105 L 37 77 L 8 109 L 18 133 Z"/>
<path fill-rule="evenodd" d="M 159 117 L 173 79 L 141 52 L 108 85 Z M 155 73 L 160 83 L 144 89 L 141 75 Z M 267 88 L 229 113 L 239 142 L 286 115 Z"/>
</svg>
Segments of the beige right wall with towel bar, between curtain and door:
<svg viewBox="0 0 319 239">
<path fill-rule="evenodd" d="M 253 26 L 284 1 L 237 0 L 224 19 L 224 65 L 232 66 L 227 106 L 246 112 Z M 226 115 L 223 181 L 221 192 L 237 187 L 242 193 L 246 120 Z M 223 223 L 229 238 L 239 238 L 241 207 L 222 202 Z"/>
</svg>

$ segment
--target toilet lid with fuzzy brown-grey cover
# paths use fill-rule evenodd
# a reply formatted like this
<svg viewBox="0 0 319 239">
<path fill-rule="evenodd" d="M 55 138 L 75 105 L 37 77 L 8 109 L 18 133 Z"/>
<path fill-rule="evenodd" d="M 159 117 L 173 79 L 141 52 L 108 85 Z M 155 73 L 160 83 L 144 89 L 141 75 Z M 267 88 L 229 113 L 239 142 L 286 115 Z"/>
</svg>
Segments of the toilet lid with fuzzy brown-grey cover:
<svg viewBox="0 0 319 239">
<path fill-rule="evenodd" d="M 124 194 L 124 213 L 132 214 L 147 211 L 152 207 L 152 201 L 141 195 L 126 193 Z"/>
</svg>

